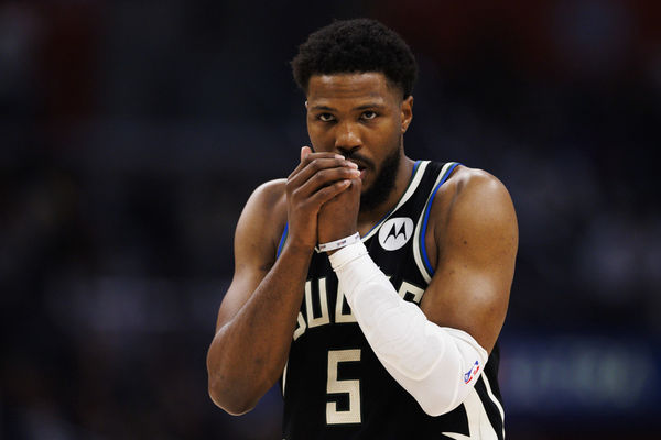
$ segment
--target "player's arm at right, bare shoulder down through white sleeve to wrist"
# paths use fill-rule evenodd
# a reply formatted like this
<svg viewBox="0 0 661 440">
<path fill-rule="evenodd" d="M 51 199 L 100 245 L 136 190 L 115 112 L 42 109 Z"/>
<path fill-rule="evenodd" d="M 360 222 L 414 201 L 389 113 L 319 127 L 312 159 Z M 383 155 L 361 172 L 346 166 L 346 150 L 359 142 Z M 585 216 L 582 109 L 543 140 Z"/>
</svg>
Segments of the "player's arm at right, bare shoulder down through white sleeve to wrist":
<svg viewBox="0 0 661 440">
<path fill-rule="evenodd" d="M 464 168 L 449 182 L 434 200 L 436 272 L 421 308 L 398 296 L 362 243 L 330 255 L 375 353 L 432 416 L 477 382 L 505 319 L 517 248 L 513 207 L 497 179 Z"/>
</svg>

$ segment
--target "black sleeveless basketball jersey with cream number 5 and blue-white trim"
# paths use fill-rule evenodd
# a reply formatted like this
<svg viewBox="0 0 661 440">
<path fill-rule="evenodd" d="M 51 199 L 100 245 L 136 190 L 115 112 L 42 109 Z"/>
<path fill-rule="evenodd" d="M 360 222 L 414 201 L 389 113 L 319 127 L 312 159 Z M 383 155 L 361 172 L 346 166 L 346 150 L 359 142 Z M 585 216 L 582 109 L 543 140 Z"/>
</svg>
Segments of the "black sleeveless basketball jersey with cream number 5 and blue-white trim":
<svg viewBox="0 0 661 440">
<path fill-rule="evenodd" d="M 400 296 L 418 305 L 434 273 L 424 245 L 431 201 L 456 165 L 416 162 L 394 209 L 361 238 Z M 286 228 L 278 253 L 285 240 Z M 427 416 L 381 365 L 326 253 L 315 253 L 281 380 L 283 439 L 503 439 L 498 362 L 496 345 L 466 400 Z"/>
</svg>

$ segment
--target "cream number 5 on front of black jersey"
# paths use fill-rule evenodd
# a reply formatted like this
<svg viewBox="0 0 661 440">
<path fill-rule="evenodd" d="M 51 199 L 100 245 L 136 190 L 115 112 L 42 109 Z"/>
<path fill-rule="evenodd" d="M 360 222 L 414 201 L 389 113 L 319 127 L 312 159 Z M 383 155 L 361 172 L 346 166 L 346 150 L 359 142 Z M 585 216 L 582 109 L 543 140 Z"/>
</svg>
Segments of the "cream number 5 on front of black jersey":
<svg viewBox="0 0 661 440">
<path fill-rule="evenodd" d="M 348 394 L 349 409 L 337 410 L 336 402 L 326 402 L 326 424 L 360 424 L 360 381 L 338 381 L 337 371 L 340 362 L 359 362 L 360 349 L 328 350 L 327 394 Z"/>
</svg>

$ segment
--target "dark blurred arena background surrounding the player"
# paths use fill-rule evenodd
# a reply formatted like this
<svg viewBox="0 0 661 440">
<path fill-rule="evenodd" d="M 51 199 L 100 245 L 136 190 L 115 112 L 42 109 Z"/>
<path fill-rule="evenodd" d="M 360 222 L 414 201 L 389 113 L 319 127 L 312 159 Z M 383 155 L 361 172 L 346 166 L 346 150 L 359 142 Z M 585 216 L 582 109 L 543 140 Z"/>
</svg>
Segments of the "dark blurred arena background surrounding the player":
<svg viewBox="0 0 661 440">
<path fill-rule="evenodd" d="M 466 4 L 468 3 L 468 4 Z M 661 3 L 0 2 L 0 438 L 280 439 L 205 356 L 251 191 L 307 143 L 289 61 L 372 16 L 420 64 L 412 158 L 509 188 L 509 439 L 661 433 Z"/>
</svg>

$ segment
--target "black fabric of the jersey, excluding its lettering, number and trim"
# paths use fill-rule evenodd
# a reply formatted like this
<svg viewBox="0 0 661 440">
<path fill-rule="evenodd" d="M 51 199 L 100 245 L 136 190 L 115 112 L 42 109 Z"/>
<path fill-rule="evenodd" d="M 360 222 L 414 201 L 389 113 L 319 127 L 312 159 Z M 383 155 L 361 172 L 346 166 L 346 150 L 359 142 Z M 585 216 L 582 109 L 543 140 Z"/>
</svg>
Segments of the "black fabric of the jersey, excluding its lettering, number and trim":
<svg viewBox="0 0 661 440">
<path fill-rule="evenodd" d="M 424 169 L 424 175 L 415 193 L 392 212 L 389 219 L 410 218 L 413 224 L 418 223 L 443 165 L 430 163 Z M 420 167 L 415 169 L 420 172 Z M 383 224 L 388 224 L 388 232 L 393 232 L 393 222 L 381 223 L 381 226 Z M 380 244 L 378 232 L 377 230 L 365 244 L 377 265 L 386 275 L 391 276 L 390 280 L 394 288 L 399 292 L 402 284 L 408 283 L 405 286 L 415 286 L 420 290 L 424 290 L 427 284 L 414 261 L 413 246 L 415 243 L 413 238 L 407 237 L 408 241 L 401 249 L 388 251 Z M 394 229 L 394 235 L 402 233 L 405 234 L 407 231 L 400 222 Z M 410 235 L 412 234 L 411 230 Z M 416 290 L 415 287 L 410 289 Z M 321 323 L 322 317 L 324 317 L 321 304 L 324 292 L 327 323 Z M 413 301 L 415 297 L 413 294 L 414 292 L 405 295 L 404 299 Z M 299 317 L 300 320 L 305 321 L 305 326 L 300 323 L 297 333 L 294 333 L 295 340 L 292 342 L 284 377 L 283 439 L 446 438 L 442 432 L 469 436 L 464 405 L 440 417 L 427 416 L 413 397 L 383 369 L 367 343 L 358 323 L 338 322 L 342 318 L 336 315 L 337 295 L 337 277 L 330 267 L 327 255 L 315 253 L 310 265 L 306 296 L 303 299 Z M 311 317 L 307 316 L 307 299 L 311 299 Z M 343 299 L 343 314 L 348 315 L 350 309 L 346 299 Z M 420 301 L 420 298 L 418 300 Z M 315 321 L 314 318 L 322 320 Z M 305 329 L 301 332 L 303 327 Z M 359 386 L 353 392 L 354 394 L 359 393 L 359 404 L 355 402 L 353 407 L 349 403 L 350 393 L 327 393 L 329 352 L 332 352 L 330 356 L 335 356 L 337 355 L 336 351 L 340 350 L 360 351 L 360 361 L 339 362 L 335 369 L 337 383 L 342 384 L 340 386 L 349 384 L 349 381 L 359 383 Z M 498 348 L 489 358 L 484 373 L 488 376 L 492 393 L 500 398 L 497 385 Z M 485 405 L 488 419 L 500 439 L 502 436 L 501 416 L 498 407 L 488 396 L 481 376 L 476 384 L 476 391 L 480 402 Z M 359 407 L 360 422 L 327 424 L 326 411 L 329 404 L 332 409 L 335 408 L 334 405 L 337 405 L 338 411 L 353 409 L 355 414 Z M 479 437 L 474 435 L 470 438 Z"/>
</svg>

